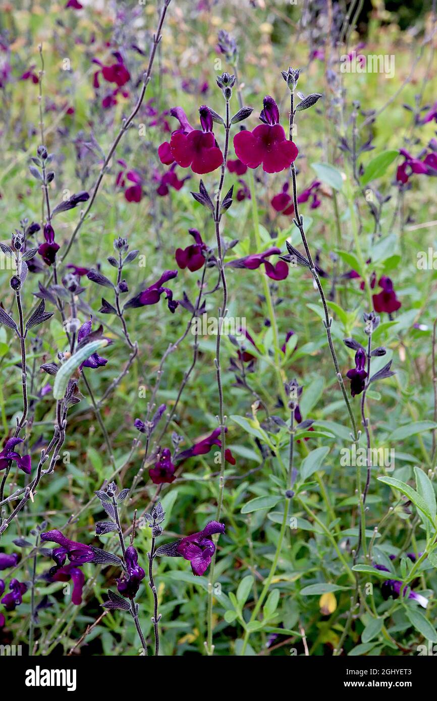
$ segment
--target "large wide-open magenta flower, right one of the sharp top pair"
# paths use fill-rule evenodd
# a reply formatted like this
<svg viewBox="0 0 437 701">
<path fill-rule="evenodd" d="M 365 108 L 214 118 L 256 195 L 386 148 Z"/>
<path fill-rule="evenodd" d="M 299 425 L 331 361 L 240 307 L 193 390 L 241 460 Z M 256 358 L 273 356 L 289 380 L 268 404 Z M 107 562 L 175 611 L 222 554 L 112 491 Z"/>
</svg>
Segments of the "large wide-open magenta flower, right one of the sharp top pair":
<svg viewBox="0 0 437 701">
<path fill-rule="evenodd" d="M 278 105 L 272 97 L 264 97 L 264 109 L 260 114 L 264 122 L 253 131 L 243 130 L 234 136 L 234 149 L 237 158 L 249 168 L 257 168 L 277 173 L 289 168 L 297 158 L 297 146 L 285 138 L 285 131 L 279 123 Z"/>
</svg>

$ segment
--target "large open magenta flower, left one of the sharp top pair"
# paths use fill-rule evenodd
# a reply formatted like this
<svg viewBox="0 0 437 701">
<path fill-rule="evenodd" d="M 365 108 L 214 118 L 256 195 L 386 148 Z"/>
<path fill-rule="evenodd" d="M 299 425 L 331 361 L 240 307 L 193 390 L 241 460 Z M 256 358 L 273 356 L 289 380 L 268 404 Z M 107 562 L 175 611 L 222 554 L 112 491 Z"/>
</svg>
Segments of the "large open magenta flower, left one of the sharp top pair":
<svg viewBox="0 0 437 701">
<path fill-rule="evenodd" d="M 173 132 L 170 139 L 170 154 L 182 168 L 189 168 L 194 173 L 203 175 L 213 172 L 223 163 L 223 154 L 215 144 L 213 116 L 210 109 L 203 105 L 199 108 L 202 130 L 193 129 L 188 133 L 182 130 Z M 161 144 L 159 156 L 168 162 L 168 149 Z"/>
</svg>

